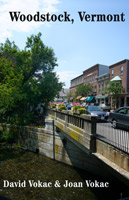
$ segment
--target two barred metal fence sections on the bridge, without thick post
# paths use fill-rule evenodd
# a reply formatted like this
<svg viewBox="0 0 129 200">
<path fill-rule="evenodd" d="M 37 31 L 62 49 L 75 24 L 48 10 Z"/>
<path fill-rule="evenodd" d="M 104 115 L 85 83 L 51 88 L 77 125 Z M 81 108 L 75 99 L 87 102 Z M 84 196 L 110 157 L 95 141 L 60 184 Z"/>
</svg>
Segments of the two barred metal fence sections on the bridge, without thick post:
<svg viewBox="0 0 129 200">
<path fill-rule="evenodd" d="M 84 119 L 81 116 L 72 115 L 69 113 L 59 112 L 57 110 L 49 110 L 49 114 L 67 123 L 73 124 L 81 129 L 84 129 L 84 122 L 92 123 L 90 120 Z M 96 122 L 93 122 L 96 123 Z M 129 126 L 117 124 L 119 128 L 114 129 L 110 121 L 97 122 L 96 130 L 92 132 L 98 139 L 129 153 Z"/>
</svg>

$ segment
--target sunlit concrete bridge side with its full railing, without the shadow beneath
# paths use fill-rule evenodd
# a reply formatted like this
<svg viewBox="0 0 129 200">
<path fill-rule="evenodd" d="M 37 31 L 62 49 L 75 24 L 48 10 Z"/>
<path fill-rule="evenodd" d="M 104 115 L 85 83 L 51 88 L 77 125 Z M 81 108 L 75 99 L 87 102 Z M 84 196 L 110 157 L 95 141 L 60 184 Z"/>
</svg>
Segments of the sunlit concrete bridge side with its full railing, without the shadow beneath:
<svg viewBox="0 0 129 200">
<path fill-rule="evenodd" d="M 74 115 L 68 111 L 49 110 L 57 133 L 62 133 L 88 154 L 108 163 L 109 166 L 129 171 L 129 134 L 113 129 L 111 123 L 98 123 L 91 115 Z M 110 162 L 109 162 L 110 161 Z"/>
</svg>

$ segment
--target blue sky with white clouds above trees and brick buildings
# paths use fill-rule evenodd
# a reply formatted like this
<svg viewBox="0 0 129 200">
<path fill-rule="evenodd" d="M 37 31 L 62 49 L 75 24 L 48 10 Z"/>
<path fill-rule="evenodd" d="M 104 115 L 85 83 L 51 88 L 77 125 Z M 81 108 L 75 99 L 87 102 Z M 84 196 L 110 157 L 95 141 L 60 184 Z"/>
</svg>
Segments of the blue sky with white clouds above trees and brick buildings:
<svg viewBox="0 0 129 200">
<path fill-rule="evenodd" d="M 63 21 L 12 21 L 9 12 L 63 15 Z M 125 21 L 88 22 L 85 17 L 81 21 L 78 12 L 90 16 L 123 13 Z M 65 13 L 73 23 L 68 18 L 64 21 Z M 129 59 L 129 0 L 0 0 L 0 43 L 9 38 L 24 49 L 27 37 L 39 32 L 44 44 L 54 50 L 55 71 L 69 88 L 71 79 L 95 64 L 109 66 Z"/>
</svg>

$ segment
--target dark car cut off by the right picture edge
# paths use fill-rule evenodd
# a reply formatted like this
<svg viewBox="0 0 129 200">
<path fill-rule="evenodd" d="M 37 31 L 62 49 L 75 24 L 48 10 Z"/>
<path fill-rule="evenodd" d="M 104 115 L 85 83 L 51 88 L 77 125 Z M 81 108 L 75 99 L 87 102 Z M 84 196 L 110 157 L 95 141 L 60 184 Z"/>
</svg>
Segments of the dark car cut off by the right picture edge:
<svg viewBox="0 0 129 200">
<path fill-rule="evenodd" d="M 125 126 L 125 128 L 129 127 L 129 106 L 121 107 L 113 112 L 110 112 L 109 120 L 112 123 L 113 128 L 117 128 L 118 126 Z"/>
</svg>

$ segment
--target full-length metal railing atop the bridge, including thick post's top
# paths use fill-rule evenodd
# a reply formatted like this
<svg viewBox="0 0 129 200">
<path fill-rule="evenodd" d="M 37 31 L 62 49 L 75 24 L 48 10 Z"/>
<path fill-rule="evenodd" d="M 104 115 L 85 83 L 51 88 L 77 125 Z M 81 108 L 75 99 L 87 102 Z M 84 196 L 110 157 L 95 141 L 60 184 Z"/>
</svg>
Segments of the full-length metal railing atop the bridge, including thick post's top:
<svg viewBox="0 0 129 200">
<path fill-rule="evenodd" d="M 69 111 L 49 110 L 49 114 L 85 130 L 95 138 L 129 153 L 129 129 L 114 129 L 110 121 L 98 123 L 95 117 L 73 115 Z"/>
</svg>

